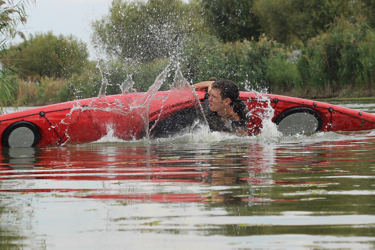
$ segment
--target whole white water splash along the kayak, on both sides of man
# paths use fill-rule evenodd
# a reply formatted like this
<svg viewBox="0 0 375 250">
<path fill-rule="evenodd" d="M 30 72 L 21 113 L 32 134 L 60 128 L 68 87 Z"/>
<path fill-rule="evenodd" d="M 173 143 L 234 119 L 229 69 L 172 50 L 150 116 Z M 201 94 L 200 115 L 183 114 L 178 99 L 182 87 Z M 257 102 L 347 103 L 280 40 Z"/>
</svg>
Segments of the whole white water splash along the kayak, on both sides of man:
<svg viewBox="0 0 375 250">
<path fill-rule="evenodd" d="M 76 137 L 83 131 L 82 128 L 77 128 L 80 121 L 90 120 L 93 130 L 99 131 L 96 137 L 88 139 L 92 142 L 98 140 L 102 142 L 102 138 L 103 140 L 107 138 L 109 142 L 144 140 L 149 143 L 254 141 L 254 138 L 261 142 L 277 142 L 281 139 L 282 134 L 272 122 L 274 110 L 270 98 L 258 92 L 255 92 L 258 101 L 265 105 L 251 110 L 251 115 L 262 120 L 260 135 L 243 138 L 234 134 L 211 133 L 197 93 L 183 77 L 178 63 L 171 65 L 172 63 L 159 74 L 154 84 L 145 93 L 136 92 L 133 88 L 132 76 L 128 75 L 120 85 L 121 95 L 112 102 L 108 101 L 109 96 L 105 96 L 108 81 L 103 77 L 98 98 L 93 99 L 87 106 L 82 106 L 77 102 L 76 107 L 72 108 L 63 120 L 63 123 L 68 125 L 66 136 L 69 138 L 69 135 L 74 134 Z M 155 97 L 157 90 L 173 71 L 174 80 L 169 85 L 170 90 L 161 95 L 160 92 Z M 153 109 L 150 113 L 153 100 Z M 160 137 L 164 139 L 157 139 Z M 71 141 L 71 143 L 82 142 L 78 140 Z"/>
</svg>

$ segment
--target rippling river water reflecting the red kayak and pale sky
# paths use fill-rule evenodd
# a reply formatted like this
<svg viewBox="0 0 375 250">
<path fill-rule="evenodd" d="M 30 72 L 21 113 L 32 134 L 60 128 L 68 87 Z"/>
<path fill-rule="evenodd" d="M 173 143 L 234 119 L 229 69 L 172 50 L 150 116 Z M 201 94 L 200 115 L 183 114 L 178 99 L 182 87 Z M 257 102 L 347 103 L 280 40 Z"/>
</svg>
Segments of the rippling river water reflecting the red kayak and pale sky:
<svg viewBox="0 0 375 250">
<path fill-rule="evenodd" d="M 107 137 L 0 157 L 0 249 L 375 248 L 375 131 Z"/>
</svg>

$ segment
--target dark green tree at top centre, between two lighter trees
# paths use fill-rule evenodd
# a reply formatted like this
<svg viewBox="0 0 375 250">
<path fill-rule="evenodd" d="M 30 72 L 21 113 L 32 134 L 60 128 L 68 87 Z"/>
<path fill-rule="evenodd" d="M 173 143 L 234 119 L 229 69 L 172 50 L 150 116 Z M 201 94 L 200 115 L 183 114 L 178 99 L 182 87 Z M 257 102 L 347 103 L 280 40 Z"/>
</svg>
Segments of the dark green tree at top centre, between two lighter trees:
<svg viewBox="0 0 375 250">
<path fill-rule="evenodd" d="M 237 41 L 260 35 L 260 23 L 253 11 L 254 0 L 202 0 L 207 23 L 223 41 Z"/>
</svg>

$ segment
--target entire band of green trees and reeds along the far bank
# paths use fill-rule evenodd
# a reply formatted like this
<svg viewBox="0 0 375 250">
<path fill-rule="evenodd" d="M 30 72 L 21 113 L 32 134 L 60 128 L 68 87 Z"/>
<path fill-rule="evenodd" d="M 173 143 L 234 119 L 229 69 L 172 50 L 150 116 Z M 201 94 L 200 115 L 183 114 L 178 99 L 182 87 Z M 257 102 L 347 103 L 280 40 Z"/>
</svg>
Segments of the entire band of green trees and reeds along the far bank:
<svg viewBox="0 0 375 250">
<path fill-rule="evenodd" d="M 0 60 L 19 105 L 97 96 L 103 78 L 117 94 L 128 75 L 147 91 L 169 64 L 192 83 L 216 77 L 241 90 L 366 97 L 375 93 L 374 10 L 368 0 L 114 0 L 92 24 L 105 60 L 90 61 L 83 42 L 52 32 Z"/>
</svg>

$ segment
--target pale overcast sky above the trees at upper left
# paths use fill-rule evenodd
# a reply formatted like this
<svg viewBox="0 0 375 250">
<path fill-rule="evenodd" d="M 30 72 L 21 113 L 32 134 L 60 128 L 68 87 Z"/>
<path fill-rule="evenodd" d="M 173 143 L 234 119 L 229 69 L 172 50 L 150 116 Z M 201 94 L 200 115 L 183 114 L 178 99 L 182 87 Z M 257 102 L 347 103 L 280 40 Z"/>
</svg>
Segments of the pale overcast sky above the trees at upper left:
<svg viewBox="0 0 375 250">
<path fill-rule="evenodd" d="M 28 38 L 35 32 L 52 31 L 54 35 L 75 35 L 88 45 L 90 59 L 95 51 L 90 45 L 90 23 L 108 14 L 111 0 L 36 0 L 26 9 L 27 23 L 19 26 Z M 20 42 L 16 39 L 14 42 Z"/>
</svg>

